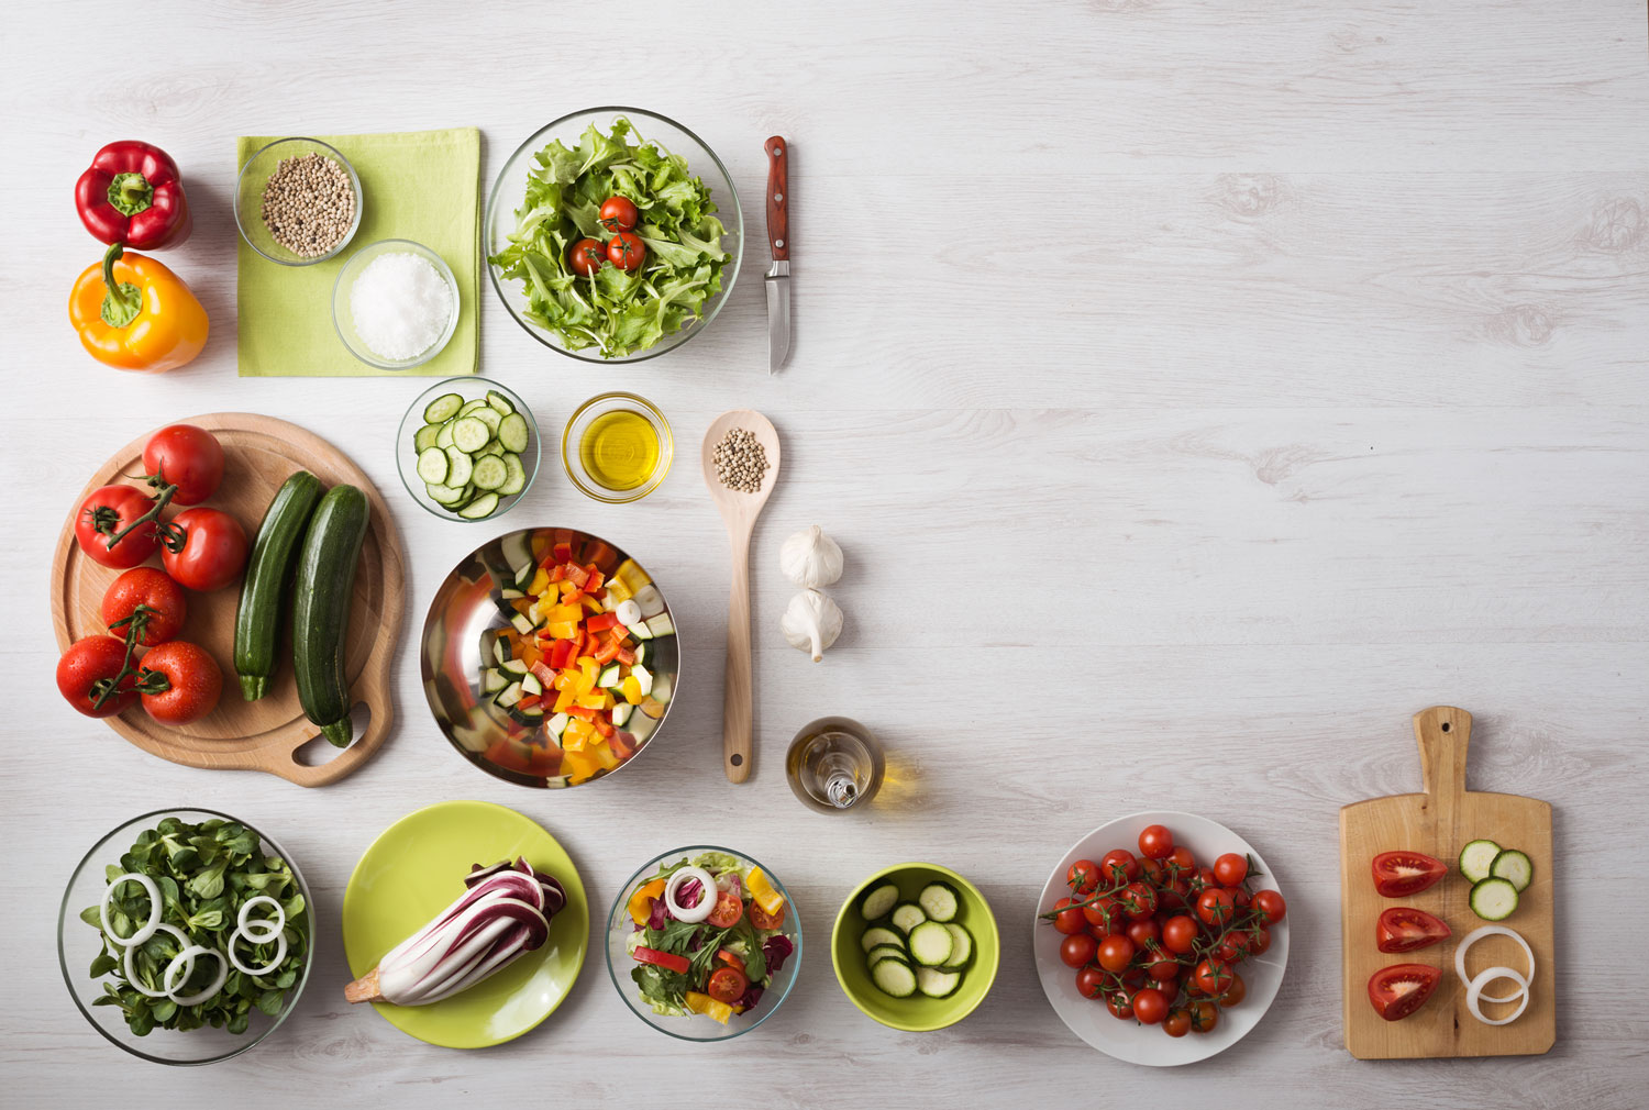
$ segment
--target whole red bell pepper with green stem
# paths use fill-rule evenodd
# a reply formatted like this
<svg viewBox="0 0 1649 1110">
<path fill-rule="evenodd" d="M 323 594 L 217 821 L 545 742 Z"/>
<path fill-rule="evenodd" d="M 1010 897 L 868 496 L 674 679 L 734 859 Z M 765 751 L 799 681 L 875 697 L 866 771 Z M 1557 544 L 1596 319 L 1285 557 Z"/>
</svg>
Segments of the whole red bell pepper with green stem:
<svg viewBox="0 0 1649 1110">
<path fill-rule="evenodd" d="M 74 183 L 81 223 L 102 242 L 135 251 L 181 246 L 195 229 L 178 163 L 147 142 L 112 142 Z"/>
</svg>

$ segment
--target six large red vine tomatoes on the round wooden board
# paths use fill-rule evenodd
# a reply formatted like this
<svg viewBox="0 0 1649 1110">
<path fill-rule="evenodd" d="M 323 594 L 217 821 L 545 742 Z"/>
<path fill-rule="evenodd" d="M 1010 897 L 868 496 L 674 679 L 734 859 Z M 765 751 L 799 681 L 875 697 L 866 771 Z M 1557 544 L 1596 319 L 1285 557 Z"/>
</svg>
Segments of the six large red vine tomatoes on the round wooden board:
<svg viewBox="0 0 1649 1110">
<path fill-rule="evenodd" d="M 143 447 L 145 493 L 132 485 L 94 490 L 74 520 L 74 538 L 94 562 L 124 571 L 102 599 L 112 635 L 86 637 L 58 660 L 58 691 L 79 713 L 109 717 L 142 701 L 155 721 L 188 724 L 213 711 L 223 671 L 211 653 L 178 640 L 188 617 L 183 587 L 216 590 L 246 566 L 241 524 L 198 505 L 223 482 L 218 439 L 193 424 L 171 424 Z M 155 551 L 165 571 L 142 566 Z M 140 655 L 142 653 L 142 655 Z"/>
</svg>

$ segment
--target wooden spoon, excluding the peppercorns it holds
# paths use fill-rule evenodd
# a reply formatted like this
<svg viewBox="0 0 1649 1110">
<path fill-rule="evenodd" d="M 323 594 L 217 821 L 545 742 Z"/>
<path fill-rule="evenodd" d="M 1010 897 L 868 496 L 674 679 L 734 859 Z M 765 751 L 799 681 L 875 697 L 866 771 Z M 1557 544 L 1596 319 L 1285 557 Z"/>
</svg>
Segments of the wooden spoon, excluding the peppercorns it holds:
<svg viewBox="0 0 1649 1110">
<path fill-rule="evenodd" d="M 767 452 L 767 472 L 755 493 L 722 485 L 716 473 L 716 445 L 735 427 L 755 435 Z M 727 680 L 722 689 L 722 759 L 729 782 L 750 777 L 752 691 L 750 691 L 750 533 L 778 480 L 778 432 L 773 422 L 752 409 L 722 412 L 704 432 L 704 485 L 727 524 L 732 544 L 732 587 L 727 595 Z"/>
</svg>

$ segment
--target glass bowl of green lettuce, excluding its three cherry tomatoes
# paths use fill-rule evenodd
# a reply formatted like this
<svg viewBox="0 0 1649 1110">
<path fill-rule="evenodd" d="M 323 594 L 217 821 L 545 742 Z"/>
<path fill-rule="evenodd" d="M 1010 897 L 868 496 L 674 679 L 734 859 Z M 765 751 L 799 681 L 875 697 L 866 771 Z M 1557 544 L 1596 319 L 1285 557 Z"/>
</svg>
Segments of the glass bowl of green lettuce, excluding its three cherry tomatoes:
<svg viewBox="0 0 1649 1110">
<path fill-rule="evenodd" d="M 602 205 L 637 208 L 645 244 L 632 270 L 572 267 L 622 228 Z M 709 327 L 739 277 L 744 213 L 727 167 L 681 124 L 635 107 L 595 107 L 534 132 L 486 198 L 486 272 L 534 340 L 587 363 L 638 363 Z"/>
</svg>

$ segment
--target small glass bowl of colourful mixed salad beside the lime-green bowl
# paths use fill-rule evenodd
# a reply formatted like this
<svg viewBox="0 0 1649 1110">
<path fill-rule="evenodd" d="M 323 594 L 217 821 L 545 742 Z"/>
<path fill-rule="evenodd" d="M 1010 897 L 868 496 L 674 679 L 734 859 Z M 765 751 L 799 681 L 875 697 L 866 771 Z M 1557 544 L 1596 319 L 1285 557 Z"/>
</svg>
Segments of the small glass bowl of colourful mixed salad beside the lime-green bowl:
<svg viewBox="0 0 1649 1110">
<path fill-rule="evenodd" d="M 801 968 L 790 892 L 742 853 L 691 844 L 630 876 L 607 915 L 607 971 L 630 1009 L 683 1041 L 726 1041 L 768 1019 Z"/>
</svg>

